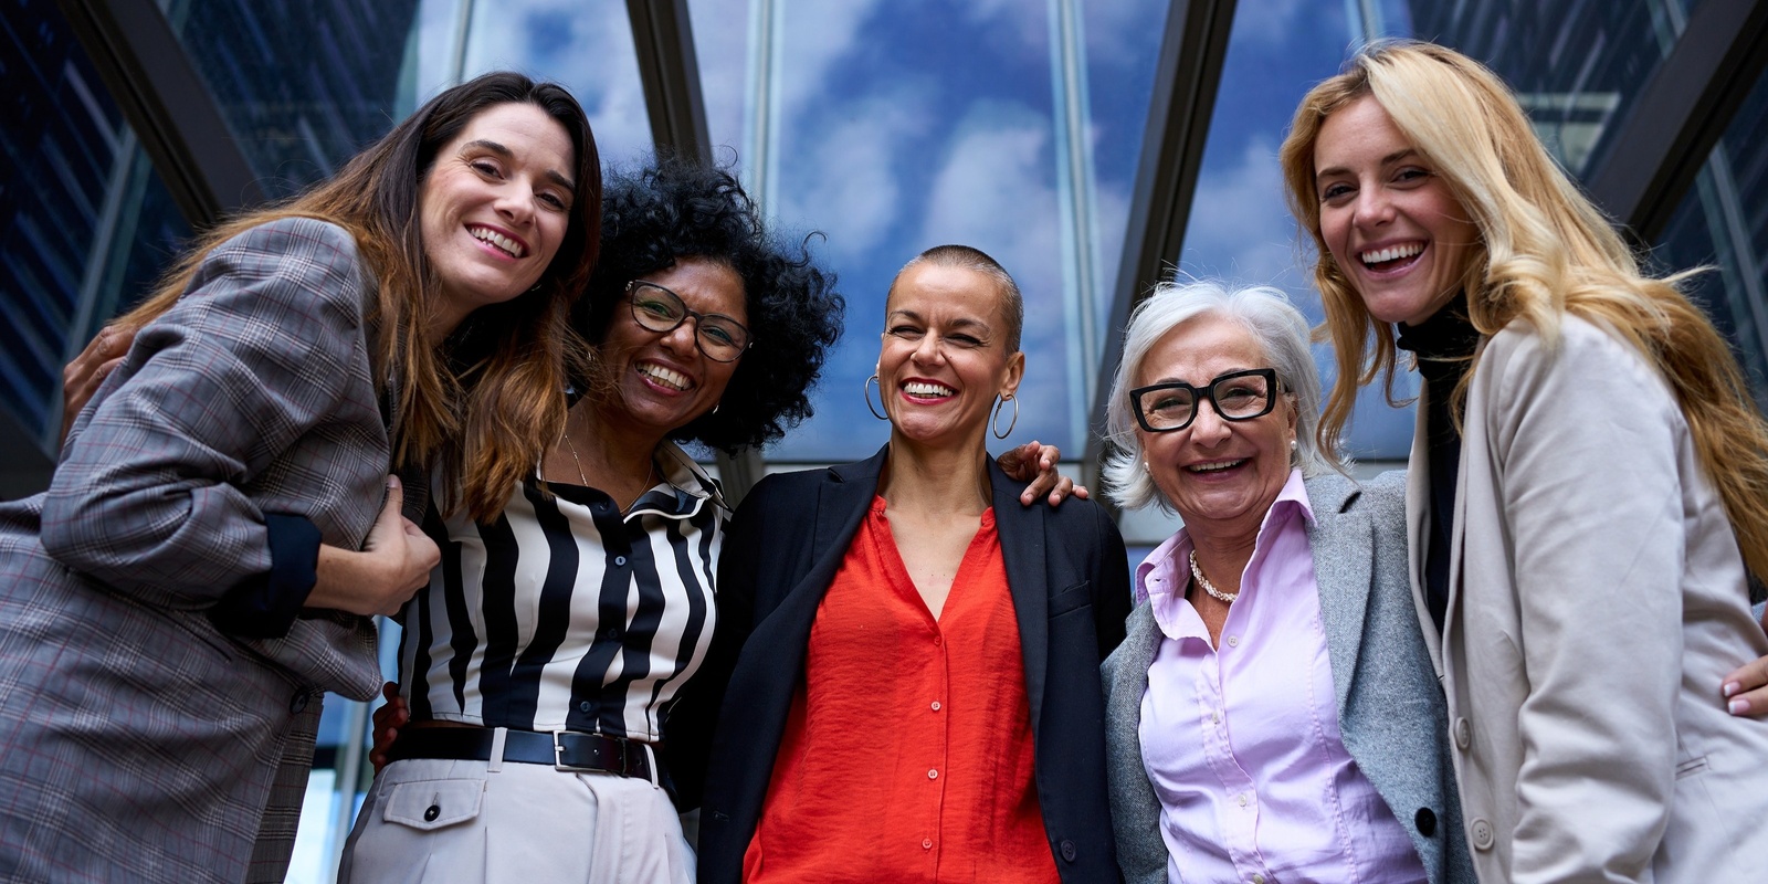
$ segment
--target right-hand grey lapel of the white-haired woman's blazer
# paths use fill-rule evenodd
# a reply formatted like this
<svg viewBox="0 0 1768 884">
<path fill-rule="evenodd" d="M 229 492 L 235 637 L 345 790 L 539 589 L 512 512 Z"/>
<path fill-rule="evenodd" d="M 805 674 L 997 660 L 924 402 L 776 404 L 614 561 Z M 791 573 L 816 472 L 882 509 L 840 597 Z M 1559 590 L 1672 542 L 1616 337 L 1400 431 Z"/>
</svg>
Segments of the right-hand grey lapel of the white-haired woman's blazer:
<svg viewBox="0 0 1768 884">
<path fill-rule="evenodd" d="M 1308 546 L 1314 550 L 1314 582 L 1321 592 L 1321 628 L 1326 631 L 1338 720 L 1344 721 L 1363 654 L 1363 615 L 1368 610 L 1376 555 L 1374 529 L 1367 514 L 1349 509 L 1360 492 L 1347 479 L 1310 479 L 1307 488 L 1315 518 L 1308 525 Z"/>
</svg>

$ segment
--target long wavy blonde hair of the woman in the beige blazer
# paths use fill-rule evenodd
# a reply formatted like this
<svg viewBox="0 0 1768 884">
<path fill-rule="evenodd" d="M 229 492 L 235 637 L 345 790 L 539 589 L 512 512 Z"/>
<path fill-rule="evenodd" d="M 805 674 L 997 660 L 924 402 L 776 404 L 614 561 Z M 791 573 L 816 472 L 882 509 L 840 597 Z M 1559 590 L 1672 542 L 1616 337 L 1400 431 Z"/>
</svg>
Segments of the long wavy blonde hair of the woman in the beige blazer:
<svg viewBox="0 0 1768 884">
<path fill-rule="evenodd" d="M 1314 237 L 1314 283 L 1338 373 L 1321 440 L 1338 438 L 1356 389 L 1377 377 L 1393 401 L 1393 327 L 1376 322 L 1321 235 L 1314 147 L 1337 110 L 1372 95 L 1467 210 L 1480 242 L 1462 286 L 1482 336 L 1528 322 L 1554 347 L 1566 313 L 1605 325 L 1669 382 L 1696 451 L 1718 488 L 1743 560 L 1768 580 L 1768 424 L 1724 336 L 1681 293 L 1688 274 L 1646 276 L 1609 219 L 1535 138 L 1515 95 L 1480 62 L 1416 41 L 1367 46 L 1344 72 L 1314 87 L 1280 161 L 1296 219 Z M 1467 377 L 1478 370 L 1478 355 Z M 1467 380 L 1455 391 L 1466 394 Z"/>
</svg>

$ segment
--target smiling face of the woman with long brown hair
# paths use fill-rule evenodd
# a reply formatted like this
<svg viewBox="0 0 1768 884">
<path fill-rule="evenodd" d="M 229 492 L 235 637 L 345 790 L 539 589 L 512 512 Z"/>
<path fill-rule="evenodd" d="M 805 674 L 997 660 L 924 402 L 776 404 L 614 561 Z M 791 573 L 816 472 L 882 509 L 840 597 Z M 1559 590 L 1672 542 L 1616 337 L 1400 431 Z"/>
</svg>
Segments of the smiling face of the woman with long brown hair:
<svg viewBox="0 0 1768 884">
<path fill-rule="evenodd" d="M 541 279 L 569 226 L 571 136 L 534 104 L 493 104 L 442 145 L 417 205 L 440 281 L 431 334 Z"/>
</svg>

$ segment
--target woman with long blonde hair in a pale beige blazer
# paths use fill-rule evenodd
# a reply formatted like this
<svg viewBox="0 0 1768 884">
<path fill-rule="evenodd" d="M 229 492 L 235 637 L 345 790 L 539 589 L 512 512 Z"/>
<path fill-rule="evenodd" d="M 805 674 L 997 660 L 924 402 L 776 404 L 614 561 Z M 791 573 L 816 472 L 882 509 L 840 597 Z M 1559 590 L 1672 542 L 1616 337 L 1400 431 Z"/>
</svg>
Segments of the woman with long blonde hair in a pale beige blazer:
<svg viewBox="0 0 1768 884">
<path fill-rule="evenodd" d="M 1480 879 L 1759 877 L 1768 721 L 1720 684 L 1768 652 L 1768 426 L 1726 341 L 1450 50 L 1363 50 L 1282 163 L 1342 366 L 1321 438 L 1398 348 L 1425 377 L 1413 585 Z"/>
</svg>

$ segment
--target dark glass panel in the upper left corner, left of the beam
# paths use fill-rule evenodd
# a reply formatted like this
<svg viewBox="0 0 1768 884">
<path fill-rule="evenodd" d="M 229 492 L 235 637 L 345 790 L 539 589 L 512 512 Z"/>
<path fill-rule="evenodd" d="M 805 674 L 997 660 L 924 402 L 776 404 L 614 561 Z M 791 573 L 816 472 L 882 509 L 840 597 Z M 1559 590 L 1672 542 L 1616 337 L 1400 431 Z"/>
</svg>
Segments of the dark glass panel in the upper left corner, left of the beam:
<svg viewBox="0 0 1768 884">
<path fill-rule="evenodd" d="M 0 408 L 60 447 L 62 366 L 189 235 L 85 48 L 48 0 L 0 19 Z"/>
</svg>

